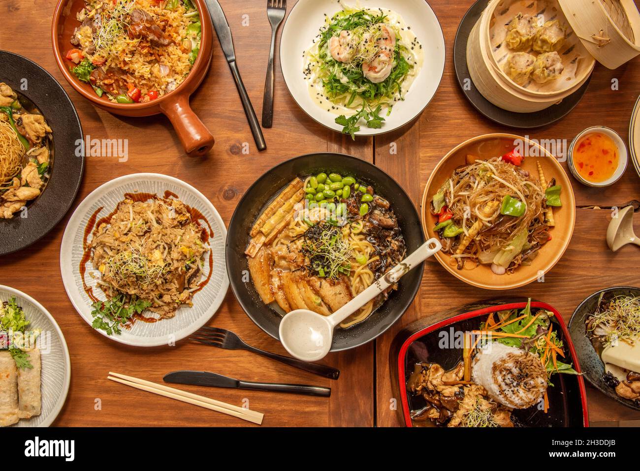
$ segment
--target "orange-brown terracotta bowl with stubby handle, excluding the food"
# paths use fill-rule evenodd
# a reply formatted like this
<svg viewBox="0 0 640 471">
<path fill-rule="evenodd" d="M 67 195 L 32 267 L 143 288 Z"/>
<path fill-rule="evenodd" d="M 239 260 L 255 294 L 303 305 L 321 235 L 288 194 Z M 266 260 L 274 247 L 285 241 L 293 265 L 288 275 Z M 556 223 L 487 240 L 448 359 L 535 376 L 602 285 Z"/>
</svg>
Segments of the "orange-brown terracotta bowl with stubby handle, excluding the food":
<svg viewBox="0 0 640 471">
<path fill-rule="evenodd" d="M 204 0 L 193 0 L 193 3 L 200 12 L 202 24 L 198 58 L 196 58 L 189 75 L 176 90 L 147 103 L 121 104 L 111 102 L 105 95 L 102 97 L 96 95 L 90 84 L 80 81 L 70 72 L 70 67 L 75 64 L 68 61 L 65 56 L 69 49 L 75 47 L 70 40 L 74 29 L 79 26 L 76 15 L 84 7 L 83 0 L 60 0 L 58 2 L 56 11 L 53 13 L 51 40 L 58 67 L 68 83 L 76 89 L 76 92 L 90 100 L 95 106 L 115 115 L 150 116 L 163 113 L 171 121 L 187 154 L 201 156 L 209 152 L 214 144 L 214 138 L 189 107 L 189 97 L 202 83 L 211 65 L 213 27 Z"/>
</svg>

